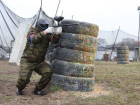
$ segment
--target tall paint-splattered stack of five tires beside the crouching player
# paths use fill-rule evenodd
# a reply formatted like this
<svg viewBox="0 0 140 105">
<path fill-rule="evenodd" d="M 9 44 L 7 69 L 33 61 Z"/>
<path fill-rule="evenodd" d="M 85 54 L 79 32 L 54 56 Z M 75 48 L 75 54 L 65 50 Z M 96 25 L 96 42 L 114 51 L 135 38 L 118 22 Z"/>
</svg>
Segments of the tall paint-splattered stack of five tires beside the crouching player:
<svg viewBox="0 0 140 105">
<path fill-rule="evenodd" d="M 63 33 L 53 50 L 51 83 L 70 91 L 92 91 L 95 51 L 99 28 L 74 20 L 61 22 Z"/>
</svg>

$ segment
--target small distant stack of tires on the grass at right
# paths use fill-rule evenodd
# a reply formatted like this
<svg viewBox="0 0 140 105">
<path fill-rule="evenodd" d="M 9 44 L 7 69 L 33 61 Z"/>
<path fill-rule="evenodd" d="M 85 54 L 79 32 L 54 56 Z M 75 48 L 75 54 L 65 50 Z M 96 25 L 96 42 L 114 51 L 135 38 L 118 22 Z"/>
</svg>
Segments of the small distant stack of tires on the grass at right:
<svg viewBox="0 0 140 105">
<path fill-rule="evenodd" d="M 129 64 L 129 48 L 125 44 L 117 48 L 117 63 Z"/>
</svg>

